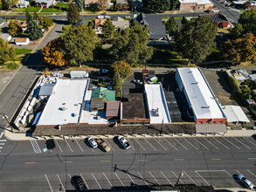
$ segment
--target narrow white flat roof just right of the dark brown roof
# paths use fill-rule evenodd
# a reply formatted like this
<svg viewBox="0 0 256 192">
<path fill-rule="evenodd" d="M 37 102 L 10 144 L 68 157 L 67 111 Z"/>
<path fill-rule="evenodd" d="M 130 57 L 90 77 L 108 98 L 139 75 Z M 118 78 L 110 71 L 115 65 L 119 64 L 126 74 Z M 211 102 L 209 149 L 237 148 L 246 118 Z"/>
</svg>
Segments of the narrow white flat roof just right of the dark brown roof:
<svg viewBox="0 0 256 192">
<path fill-rule="evenodd" d="M 147 105 L 149 109 L 150 124 L 170 123 L 170 114 L 161 84 L 146 84 Z M 154 110 L 158 108 L 159 116 Z"/>
</svg>

